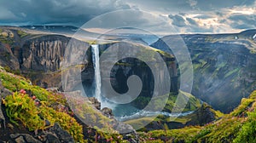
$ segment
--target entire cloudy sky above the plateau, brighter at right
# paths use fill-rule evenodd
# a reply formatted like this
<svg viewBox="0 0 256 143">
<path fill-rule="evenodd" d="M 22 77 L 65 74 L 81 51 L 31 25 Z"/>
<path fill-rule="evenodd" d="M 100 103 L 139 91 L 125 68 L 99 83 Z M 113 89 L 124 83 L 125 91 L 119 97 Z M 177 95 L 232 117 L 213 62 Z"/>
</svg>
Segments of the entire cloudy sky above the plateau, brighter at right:
<svg viewBox="0 0 256 143">
<path fill-rule="evenodd" d="M 115 15 L 104 19 L 133 20 L 137 26 L 151 26 L 164 32 L 169 25 L 179 33 L 225 33 L 256 29 L 255 0 L 0 0 L 0 26 L 61 25 L 84 23 L 116 10 L 134 9 L 145 14 Z M 106 26 L 106 27 L 104 27 Z"/>
</svg>

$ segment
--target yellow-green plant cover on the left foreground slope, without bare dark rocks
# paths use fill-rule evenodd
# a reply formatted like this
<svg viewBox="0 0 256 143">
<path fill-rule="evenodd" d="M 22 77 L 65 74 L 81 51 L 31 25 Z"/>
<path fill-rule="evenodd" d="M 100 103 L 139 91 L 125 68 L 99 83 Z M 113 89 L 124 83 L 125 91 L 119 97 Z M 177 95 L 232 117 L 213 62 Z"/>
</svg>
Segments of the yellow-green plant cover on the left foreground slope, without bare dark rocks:
<svg viewBox="0 0 256 143">
<path fill-rule="evenodd" d="M 102 129 L 105 129 L 104 131 L 108 129 L 108 132 L 90 133 L 91 136 L 88 134 L 89 132 L 83 133 L 84 128 L 87 130 L 93 129 L 87 126 L 83 127 L 76 117 L 73 116 L 73 112 L 69 108 L 62 108 L 62 106 L 68 106 L 64 94 L 54 93 L 31 85 L 31 82 L 25 77 L 5 72 L 1 66 L 0 80 L 5 89 L 14 92 L 13 95 L 2 99 L 9 119 L 14 125 L 22 123 L 26 129 L 32 131 L 36 129 L 48 129 L 54 123 L 60 123 L 61 128 L 67 130 L 67 132 L 73 136 L 74 140 L 78 142 L 86 142 L 86 140 L 93 141 L 95 134 L 101 135 L 101 140 L 105 141 L 111 138 L 113 140 L 121 139 L 118 139 L 119 134 L 115 134 L 117 132 L 107 124 L 111 122 L 110 119 L 93 109 L 88 102 L 80 103 L 79 105 L 82 107 L 79 109 L 81 112 L 90 112 L 91 116 L 86 116 L 87 120 L 93 121 L 96 118 L 96 122 L 99 123 L 98 125 L 101 126 Z M 20 94 L 20 89 L 25 89 L 26 94 Z M 40 106 L 36 105 L 35 101 L 32 100 L 32 95 L 35 95 L 37 99 L 40 100 Z M 73 100 L 77 101 L 76 99 Z M 80 117 L 83 116 L 84 115 L 81 115 Z M 30 119 L 31 117 L 33 119 Z M 50 125 L 46 126 L 44 120 L 49 120 Z M 85 135 L 87 138 L 84 138 Z"/>
</svg>

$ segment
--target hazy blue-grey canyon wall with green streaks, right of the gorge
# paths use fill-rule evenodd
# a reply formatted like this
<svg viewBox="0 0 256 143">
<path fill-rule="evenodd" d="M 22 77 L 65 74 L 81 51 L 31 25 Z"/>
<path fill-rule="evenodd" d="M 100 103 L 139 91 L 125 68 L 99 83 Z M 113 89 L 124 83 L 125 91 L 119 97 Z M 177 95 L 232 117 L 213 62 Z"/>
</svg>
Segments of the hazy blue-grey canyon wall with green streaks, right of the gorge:
<svg viewBox="0 0 256 143">
<path fill-rule="evenodd" d="M 194 66 L 192 94 L 222 112 L 232 111 L 248 96 L 256 88 L 254 33 L 182 35 Z M 172 52 L 163 41 L 175 44 L 175 37 L 163 37 L 153 44 Z"/>
</svg>

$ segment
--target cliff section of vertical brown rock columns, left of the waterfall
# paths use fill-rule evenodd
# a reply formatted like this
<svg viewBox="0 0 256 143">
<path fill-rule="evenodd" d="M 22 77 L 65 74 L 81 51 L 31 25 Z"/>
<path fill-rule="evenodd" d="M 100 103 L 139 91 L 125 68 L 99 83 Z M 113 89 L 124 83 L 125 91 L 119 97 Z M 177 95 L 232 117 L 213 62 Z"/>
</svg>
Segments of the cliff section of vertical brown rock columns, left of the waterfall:
<svg viewBox="0 0 256 143">
<path fill-rule="evenodd" d="M 69 38 L 43 36 L 28 39 L 18 51 L 14 51 L 23 71 L 55 72 L 60 70 Z"/>
</svg>

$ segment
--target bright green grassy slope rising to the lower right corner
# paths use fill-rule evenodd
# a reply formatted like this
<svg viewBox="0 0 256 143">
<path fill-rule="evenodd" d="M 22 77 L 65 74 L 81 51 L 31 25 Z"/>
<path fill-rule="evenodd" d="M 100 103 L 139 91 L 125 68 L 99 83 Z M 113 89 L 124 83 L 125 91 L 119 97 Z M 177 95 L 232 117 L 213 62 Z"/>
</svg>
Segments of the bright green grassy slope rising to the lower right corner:
<svg viewBox="0 0 256 143">
<path fill-rule="evenodd" d="M 234 112 L 204 126 L 154 130 L 141 133 L 142 140 L 173 142 L 253 142 L 256 140 L 256 90 L 242 99 Z"/>
</svg>

